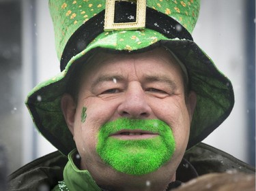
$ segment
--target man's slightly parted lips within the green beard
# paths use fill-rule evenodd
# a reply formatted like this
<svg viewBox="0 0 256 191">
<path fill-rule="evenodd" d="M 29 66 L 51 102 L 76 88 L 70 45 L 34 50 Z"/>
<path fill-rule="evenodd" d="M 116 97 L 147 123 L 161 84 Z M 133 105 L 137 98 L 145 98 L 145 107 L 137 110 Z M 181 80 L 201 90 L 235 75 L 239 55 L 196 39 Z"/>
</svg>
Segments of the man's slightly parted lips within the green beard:
<svg viewBox="0 0 256 191">
<path fill-rule="evenodd" d="M 158 133 L 153 133 L 151 131 L 143 131 L 143 130 L 127 130 L 124 129 L 122 131 L 117 131 L 113 133 L 109 137 L 117 138 L 117 139 L 150 139 L 156 137 Z"/>
</svg>

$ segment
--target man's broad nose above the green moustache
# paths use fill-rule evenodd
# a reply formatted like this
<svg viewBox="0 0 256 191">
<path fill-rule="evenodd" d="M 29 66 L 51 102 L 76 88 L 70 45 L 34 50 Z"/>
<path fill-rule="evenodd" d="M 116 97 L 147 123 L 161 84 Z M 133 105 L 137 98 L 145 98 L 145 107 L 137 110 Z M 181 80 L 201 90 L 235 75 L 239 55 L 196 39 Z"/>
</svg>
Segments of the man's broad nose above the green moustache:
<svg viewBox="0 0 256 191">
<path fill-rule="evenodd" d="M 147 118 L 152 113 L 150 105 L 148 105 L 145 92 L 141 84 L 134 82 L 128 86 L 124 101 L 117 108 L 120 116 L 125 118 Z"/>
</svg>

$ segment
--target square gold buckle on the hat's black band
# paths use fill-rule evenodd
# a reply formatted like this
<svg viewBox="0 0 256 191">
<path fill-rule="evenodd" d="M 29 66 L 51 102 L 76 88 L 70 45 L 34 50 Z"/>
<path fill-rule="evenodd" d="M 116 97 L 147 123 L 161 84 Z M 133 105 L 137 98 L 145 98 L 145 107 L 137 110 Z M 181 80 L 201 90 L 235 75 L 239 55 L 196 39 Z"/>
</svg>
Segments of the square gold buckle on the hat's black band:
<svg viewBox="0 0 256 191">
<path fill-rule="evenodd" d="M 146 20 L 146 1 L 147 0 L 132 0 L 136 1 L 136 21 L 135 22 L 114 22 L 115 17 L 115 1 L 131 1 L 131 0 L 106 0 L 105 24 L 104 31 L 118 30 L 136 30 L 145 28 Z"/>
</svg>

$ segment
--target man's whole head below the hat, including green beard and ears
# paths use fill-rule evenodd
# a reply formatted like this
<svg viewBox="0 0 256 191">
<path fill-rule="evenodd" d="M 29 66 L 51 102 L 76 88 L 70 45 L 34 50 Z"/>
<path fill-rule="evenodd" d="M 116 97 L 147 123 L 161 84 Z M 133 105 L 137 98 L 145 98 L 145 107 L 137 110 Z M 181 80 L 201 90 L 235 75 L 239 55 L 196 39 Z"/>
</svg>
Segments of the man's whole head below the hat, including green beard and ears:
<svg viewBox="0 0 256 191">
<path fill-rule="evenodd" d="M 80 168 L 102 188 L 115 180 L 111 190 L 143 190 L 149 181 L 165 190 L 186 150 L 195 92 L 184 93 L 182 69 L 165 49 L 96 54 L 82 71 L 77 101 L 61 99 Z"/>
</svg>

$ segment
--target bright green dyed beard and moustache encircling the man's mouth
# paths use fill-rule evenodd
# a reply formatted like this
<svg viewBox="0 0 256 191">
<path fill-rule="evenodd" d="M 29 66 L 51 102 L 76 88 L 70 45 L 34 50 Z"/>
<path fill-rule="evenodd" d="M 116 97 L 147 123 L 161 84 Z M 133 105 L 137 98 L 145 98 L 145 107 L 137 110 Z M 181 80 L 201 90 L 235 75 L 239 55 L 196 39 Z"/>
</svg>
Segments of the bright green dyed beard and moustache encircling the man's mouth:
<svg viewBox="0 0 256 191">
<path fill-rule="evenodd" d="M 121 130 L 151 131 L 150 139 L 122 140 L 109 137 Z M 120 118 L 100 128 L 96 151 L 106 164 L 129 175 L 145 175 L 162 167 L 175 151 L 171 128 L 161 120 L 130 120 Z"/>
</svg>

